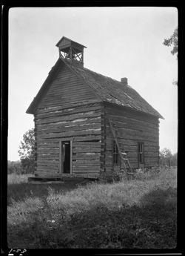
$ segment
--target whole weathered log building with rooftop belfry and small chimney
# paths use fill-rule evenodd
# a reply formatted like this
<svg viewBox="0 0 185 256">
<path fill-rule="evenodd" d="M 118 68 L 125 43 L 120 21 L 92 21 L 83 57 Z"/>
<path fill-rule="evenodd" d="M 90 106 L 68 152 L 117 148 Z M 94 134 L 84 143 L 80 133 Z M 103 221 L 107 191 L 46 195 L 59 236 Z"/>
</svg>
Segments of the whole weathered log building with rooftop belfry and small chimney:
<svg viewBox="0 0 185 256">
<path fill-rule="evenodd" d="M 84 68 L 84 45 L 63 36 L 56 46 L 59 58 L 27 109 L 35 122 L 35 176 L 96 178 L 127 159 L 131 168 L 158 165 L 163 116 L 127 78 Z"/>
</svg>

